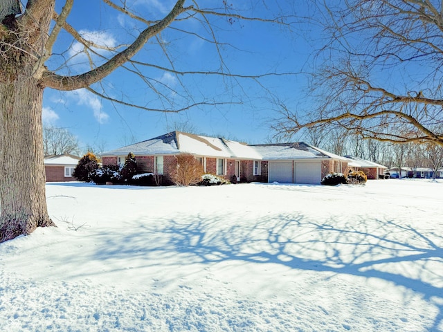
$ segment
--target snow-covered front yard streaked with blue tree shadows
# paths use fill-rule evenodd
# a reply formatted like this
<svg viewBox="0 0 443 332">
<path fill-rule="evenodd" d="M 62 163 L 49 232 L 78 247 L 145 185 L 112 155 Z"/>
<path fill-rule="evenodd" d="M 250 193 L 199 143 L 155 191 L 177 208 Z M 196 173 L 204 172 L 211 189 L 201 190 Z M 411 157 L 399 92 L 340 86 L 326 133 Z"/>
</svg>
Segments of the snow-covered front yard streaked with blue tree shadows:
<svg viewBox="0 0 443 332">
<path fill-rule="evenodd" d="M 443 183 L 46 186 L 0 331 L 443 331 Z"/>
</svg>

